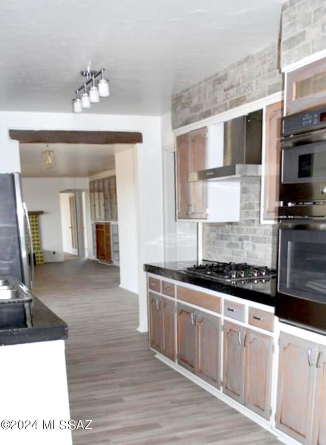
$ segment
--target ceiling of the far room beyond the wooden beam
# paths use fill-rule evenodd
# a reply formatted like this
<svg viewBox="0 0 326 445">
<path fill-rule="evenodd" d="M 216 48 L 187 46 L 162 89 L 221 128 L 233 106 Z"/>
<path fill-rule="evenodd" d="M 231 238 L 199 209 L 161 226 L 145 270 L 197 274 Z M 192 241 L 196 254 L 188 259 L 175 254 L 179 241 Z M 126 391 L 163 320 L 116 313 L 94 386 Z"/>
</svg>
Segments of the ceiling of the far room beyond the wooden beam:
<svg viewBox="0 0 326 445">
<path fill-rule="evenodd" d="M 126 146 L 130 147 L 130 145 Z M 55 152 L 55 168 L 45 170 L 41 152 L 45 144 L 19 144 L 21 175 L 24 178 L 82 178 L 115 168 L 114 154 L 124 145 L 48 144 Z"/>
</svg>

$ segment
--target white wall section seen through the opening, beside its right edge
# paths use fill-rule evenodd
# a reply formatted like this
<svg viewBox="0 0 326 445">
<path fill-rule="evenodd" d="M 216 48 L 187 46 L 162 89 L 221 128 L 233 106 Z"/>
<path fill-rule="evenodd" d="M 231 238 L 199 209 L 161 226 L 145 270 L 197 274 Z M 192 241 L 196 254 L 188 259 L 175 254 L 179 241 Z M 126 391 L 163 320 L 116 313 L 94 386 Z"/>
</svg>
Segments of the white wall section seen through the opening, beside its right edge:
<svg viewBox="0 0 326 445">
<path fill-rule="evenodd" d="M 138 199 L 135 148 L 115 154 L 119 215 L 120 286 L 138 292 Z"/>
</svg>

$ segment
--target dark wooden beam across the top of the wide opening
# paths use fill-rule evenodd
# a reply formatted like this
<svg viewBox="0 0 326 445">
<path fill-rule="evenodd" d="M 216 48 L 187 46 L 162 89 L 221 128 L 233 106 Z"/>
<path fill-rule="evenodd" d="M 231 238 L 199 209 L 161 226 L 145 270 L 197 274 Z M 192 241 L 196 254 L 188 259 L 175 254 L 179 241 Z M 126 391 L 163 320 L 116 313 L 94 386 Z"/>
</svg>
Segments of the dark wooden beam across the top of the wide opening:
<svg viewBox="0 0 326 445">
<path fill-rule="evenodd" d="M 142 133 L 127 131 L 9 130 L 12 140 L 24 144 L 140 144 Z"/>
</svg>

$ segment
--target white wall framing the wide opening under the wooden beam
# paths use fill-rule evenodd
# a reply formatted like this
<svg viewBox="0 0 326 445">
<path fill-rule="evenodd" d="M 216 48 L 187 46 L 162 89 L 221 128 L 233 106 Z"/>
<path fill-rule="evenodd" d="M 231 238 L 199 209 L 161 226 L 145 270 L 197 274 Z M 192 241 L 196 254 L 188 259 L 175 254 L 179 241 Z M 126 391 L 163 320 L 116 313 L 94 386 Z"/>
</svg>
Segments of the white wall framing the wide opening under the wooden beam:
<svg viewBox="0 0 326 445">
<path fill-rule="evenodd" d="M 120 116 L 73 113 L 0 112 L 0 173 L 19 172 L 19 144 L 9 129 L 139 131 L 143 143 L 135 146 L 139 202 L 139 330 L 146 331 L 147 295 L 144 263 L 164 259 L 161 119 L 157 116 Z M 119 223 L 120 223 L 119 217 Z"/>
</svg>

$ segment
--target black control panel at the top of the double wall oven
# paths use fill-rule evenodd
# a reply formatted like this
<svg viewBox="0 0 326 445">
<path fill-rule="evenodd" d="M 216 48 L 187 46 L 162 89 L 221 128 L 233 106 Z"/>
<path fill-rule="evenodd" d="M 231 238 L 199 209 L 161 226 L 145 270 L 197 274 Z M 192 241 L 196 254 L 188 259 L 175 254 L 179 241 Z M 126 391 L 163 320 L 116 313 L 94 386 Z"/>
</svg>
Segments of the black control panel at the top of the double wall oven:
<svg viewBox="0 0 326 445">
<path fill-rule="evenodd" d="M 326 107 L 307 110 L 283 118 L 283 136 L 326 128 Z"/>
</svg>

